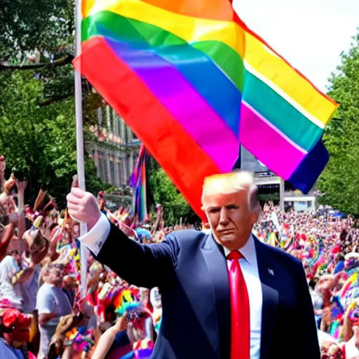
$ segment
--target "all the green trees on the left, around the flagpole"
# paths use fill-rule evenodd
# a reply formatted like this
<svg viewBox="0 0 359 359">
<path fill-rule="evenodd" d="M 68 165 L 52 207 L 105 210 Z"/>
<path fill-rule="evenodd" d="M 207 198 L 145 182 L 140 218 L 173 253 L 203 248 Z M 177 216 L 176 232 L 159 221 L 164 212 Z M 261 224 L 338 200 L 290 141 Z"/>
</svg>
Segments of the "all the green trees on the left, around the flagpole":
<svg viewBox="0 0 359 359">
<path fill-rule="evenodd" d="M 59 204 L 76 173 L 74 3 L 3 0 L 0 6 L 0 154 L 8 171 L 29 179 L 30 198 L 42 187 Z M 96 140 L 88 129 L 101 105 L 83 79 L 85 144 Z M 88 159 L 86 188 L 93 193 L 109 187 L 96 172 Z"/>
</svg>

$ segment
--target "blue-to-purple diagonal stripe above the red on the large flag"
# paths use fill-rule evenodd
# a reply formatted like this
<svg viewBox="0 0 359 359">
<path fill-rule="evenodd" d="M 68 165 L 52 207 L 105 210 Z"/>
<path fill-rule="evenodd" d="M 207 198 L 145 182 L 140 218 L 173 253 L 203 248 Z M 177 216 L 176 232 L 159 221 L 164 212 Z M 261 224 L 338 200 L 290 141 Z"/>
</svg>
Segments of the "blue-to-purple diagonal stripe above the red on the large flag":
<svg viewBox="0 0 359 359">
<path fill-rule="evenodd" d="M 140 76 L 218 168 L 222 172 L 231 171 L 238 157 L 238 139 L 189 81 L 155 53 L 130 48 L 117 41 L 107 40 L 107 44 Z M 184 151 L 183 156 L 191 154 Z"/>
</svg>

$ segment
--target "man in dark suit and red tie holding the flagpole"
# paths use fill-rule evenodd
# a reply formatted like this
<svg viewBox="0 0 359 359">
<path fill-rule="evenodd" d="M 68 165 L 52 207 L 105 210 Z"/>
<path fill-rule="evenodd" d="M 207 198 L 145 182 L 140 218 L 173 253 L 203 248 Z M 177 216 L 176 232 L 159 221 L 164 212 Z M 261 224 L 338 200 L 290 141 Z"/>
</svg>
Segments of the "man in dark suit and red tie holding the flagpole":
<svg viewBox="0 0 359 359">
<path fill-rule="evenodd" d="M 203 210 L 212 233 L 177 231 L 140 245 L 101 215 L 80 189 L 67 196 L 97 259 L 139 287 L 161 290 L 156 359 L 319 359 L 302 263 L 252 235 L 260 206 L 248 172 L 205 179 Z"/>
</svg>

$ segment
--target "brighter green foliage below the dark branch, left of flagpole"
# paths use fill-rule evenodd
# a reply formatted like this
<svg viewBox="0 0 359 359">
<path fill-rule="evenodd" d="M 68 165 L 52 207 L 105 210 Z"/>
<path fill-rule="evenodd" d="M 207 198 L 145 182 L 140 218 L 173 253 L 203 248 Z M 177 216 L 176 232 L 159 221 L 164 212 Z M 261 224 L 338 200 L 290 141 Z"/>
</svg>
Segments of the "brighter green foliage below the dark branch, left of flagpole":
<svg viewBox="0 0 359 359">
<path fill-rule="evenodd" d="M 6 158 L 7 175 L 11 171 L 29 180 L 29 198 L 43 188 L 62 205 L 76 174 L 73 98 L 39 106 L 43 82 L 29 71 L 2 73 L 0 82 L 0 154 Z M 86 162 L 86 180 L 95 194 L 109 188 L 97 178 L 92 160 Z"/>
</svg>

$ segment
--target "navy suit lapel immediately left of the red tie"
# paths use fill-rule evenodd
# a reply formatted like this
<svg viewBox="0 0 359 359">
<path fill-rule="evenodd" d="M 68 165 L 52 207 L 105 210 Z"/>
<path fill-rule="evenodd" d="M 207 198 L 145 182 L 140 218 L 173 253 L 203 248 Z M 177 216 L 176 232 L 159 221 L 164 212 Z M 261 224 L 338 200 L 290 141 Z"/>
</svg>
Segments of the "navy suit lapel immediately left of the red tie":
<svg viewBox="0 0 359 359">
<path fill-rule="evenodd" d="M 217 335 L 220 348 L 215 348 L 217 358 L 229 358 L 231 345 L 231 306 L 229 300 L 229 278 L 223 248 L 208 235 L 202 246 L 205 264 L 212 279 L 217 327 L 211 335 Z M 210 299 L 208 299 L 210 300 Z M 210 338 L 212 339 L 212 338 Z"/>
</svg>

